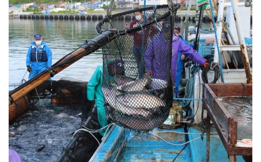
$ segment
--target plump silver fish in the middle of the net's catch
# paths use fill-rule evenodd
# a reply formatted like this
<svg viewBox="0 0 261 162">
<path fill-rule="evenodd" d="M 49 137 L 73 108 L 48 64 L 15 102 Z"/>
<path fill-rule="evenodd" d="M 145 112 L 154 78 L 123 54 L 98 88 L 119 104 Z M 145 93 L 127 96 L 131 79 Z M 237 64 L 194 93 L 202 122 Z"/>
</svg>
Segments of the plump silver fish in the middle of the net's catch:
<svg viewBox="0 0 261 162">
<path fill-rule="evenodd" d="M 163 99 L 146 91 L 125 92 L 116 96 L 116 101 L 135 109 L 152 109 L 154 112 L 166 106 Z"/>
</svg>

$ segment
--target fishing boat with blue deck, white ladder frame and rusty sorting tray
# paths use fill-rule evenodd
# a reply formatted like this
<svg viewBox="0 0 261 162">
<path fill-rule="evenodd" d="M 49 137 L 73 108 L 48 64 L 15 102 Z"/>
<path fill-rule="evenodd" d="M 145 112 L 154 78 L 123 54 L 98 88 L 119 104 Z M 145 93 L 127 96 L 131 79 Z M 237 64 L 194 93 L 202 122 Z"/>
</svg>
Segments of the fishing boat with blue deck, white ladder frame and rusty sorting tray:
<svg viewBox="0 0 261 162">
<path fill-rule="evenodd" d="M 206 5 L 203 1 L 201 3 L 201 6 Z M 210 4 L 213 6 L 212 3 Z M 241 7 L 240 10 L 238 6 Z M 191 78 L 194 81 L 192 85 L 194 94 L 190 98 L 187 95 L 187 98 L 174 99 L 191 100 L 189 106 L 192 111 L 192 120 L 187 120 L 187 118 L 179 120 L 181 115 L 185 117 L 188 112 L 185 113 L 185 111 L 178 109 L 182 102 L 174 102 L 171 109 L 175 112 L 174 115 L 170 115 L 163 125 L 154 128 L 152 131 L 137 132 L 119 125 L 113 125 L 90 161 L 252 161 L 252 117 L 250 123 L 241 116 L 242 114 L 240 115 L 242 120 L 239 119 L 237 117 L 239 114 L 229 110 L 231 107 L 228 108 L 225 101 L 225 98 L 230 97 L 247 97 L 252 100 L 252 63 L 250 65 L 248 62 L 248 60 L 251 60 L 252 51 L 246 50 L 252 48 L 252 40 L 248 39 L 250 38 L 249 33 L 243 35 L 240 21 L 242 17 L 239 17 L 239 11 L 244 14 L 249 13 L 248 19 L 244 20 L 244 23 L 250 23 L 249 6 L 245 6 L 245 3 L 236 3 L 236 1 L 231 3 L 220 2 L 217 19 L 219 23 L 224 21 L 224 8 L 227 12 L 227 21 L 229 12 L 230 16 L 234 16 L 231 20 L 237 19 L 236 23 L 228 22 L 230 24 L 228 30 L 238 31 L 236 36 L 229 34 L 239 41 L 235 43 L 232 40 L 234 44 L 229 45 L 221 42 L 222 24 L 215 26 L 215 33 L 211 35 L 214 37 L 216 35 L 218 43 L 212 44 L 212 46 L 206 45 L 205 39 L 207 37 L 196 40 L 198 41 L 198 52 L 201 56 L 212 56 L 214 57 L 213 62 L 220 63 L 221 74 L 217 74 L 214 67 L 208 71 L 209 73 L 199 70 L 198 75 L 188 74 L 190 77 L 186 79 Z M 242 10 L 248 12 L 242 12 Z M 250 31 L 249 27 L 250 24 L 246 24 L 245 28 L 248 28 L 248 30 L 245 30 L 246 32 Z M 230 42 L 232 41 L 230 40 Z M 244 47 L 241 48 L 240 45 Z M 241 63 L 245 66 L 241 66 L 241 68 L 223 66 L 228 63 L 226 56 L 220 57 L 219 52 L 225 51 L 242 51 L 240 52 L 241 55 L 247 53 L 246 56 L 243 56 L 246 57 L 246 63 Z M 233 61 L 239 63 L 239 60 Z M 222 69 L 222 66 L 226 69 Z M 187 71 L 192 71 L 192 68 L 188 67 Z M 206 73 L 208 73 L 207 76 Z M 222 77 L 217 75 L 222 75 Z M 246 76 L 248 79 L 246 79 Z M 187 83 L 187 92 L 190 88 Z M 230 101 L 232 102 L 232 100 Z M 241 103 L 249 104 L 248 101 L 244 102 L 243 100 Z M 252 112 L 252 101 L 250 101 L 250 105 L 246 108 L 247 112 Z M 248 130 L 241 131 L 244 129 L 244 125 L 248 125 Z"/>
</svg>

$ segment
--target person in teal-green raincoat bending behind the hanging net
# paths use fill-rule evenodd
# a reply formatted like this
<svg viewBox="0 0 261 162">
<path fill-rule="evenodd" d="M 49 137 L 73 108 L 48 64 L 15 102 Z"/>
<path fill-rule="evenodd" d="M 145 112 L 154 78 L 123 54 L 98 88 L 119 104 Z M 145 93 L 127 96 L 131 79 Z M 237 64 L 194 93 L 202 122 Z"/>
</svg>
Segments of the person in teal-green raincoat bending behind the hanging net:
<svg viewBox="0 0 261 162">
<path fill-rule="evenodd" d="M 103 65 L 97 66 L 87 85 L 87 99 L 89 101 L 95 100 L 100 128 L 108 125 L 101 87 L 115 84 L 113 77 L 115 74 L 124 75 L 124 62 L 121 59 L 108 61 L 105 64 L 105 69 L 106 70 L 103 69 Z M 105 76 L 106 80 L 102 80 L 103 75 Z M 102 82 L 104 83 L 102 84 Z M 105 131 L 105 129 L 99 130 L 99 134 L 103 137 L 105 135 Z"/>
</svg>

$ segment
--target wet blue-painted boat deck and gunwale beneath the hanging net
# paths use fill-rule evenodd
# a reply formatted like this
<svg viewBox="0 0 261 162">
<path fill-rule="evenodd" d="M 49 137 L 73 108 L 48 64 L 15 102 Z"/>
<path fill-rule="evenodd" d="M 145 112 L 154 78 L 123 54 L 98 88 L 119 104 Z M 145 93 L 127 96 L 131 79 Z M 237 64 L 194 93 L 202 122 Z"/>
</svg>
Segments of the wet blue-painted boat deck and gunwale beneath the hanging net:
<svg viewBox="0 0 261 162">
<path fill-rule="evenodd" d="M 139 133 L 116 125 L 100 144 L 90 161 L 206 161 L 206 134 L 199 126 L 188 126 L 188 145 L 184 128 L 155 128 Z M 107 138 L 107 139 L 106 139 Z M 210 161 L 229 161 L 227 152 L 211 128 Z M 237 161 L 245 161 L 241 155 Z"/>
</svg>

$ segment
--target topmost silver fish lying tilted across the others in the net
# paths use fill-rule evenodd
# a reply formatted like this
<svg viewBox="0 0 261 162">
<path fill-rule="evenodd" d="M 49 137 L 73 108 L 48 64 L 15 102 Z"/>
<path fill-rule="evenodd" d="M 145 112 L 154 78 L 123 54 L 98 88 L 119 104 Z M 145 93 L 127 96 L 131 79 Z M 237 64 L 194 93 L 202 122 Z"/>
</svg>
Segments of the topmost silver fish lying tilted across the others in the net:
<svg viewBox="0 0 261 162">
<path fill-rule="evenodd" d="M 152 79 L 148 75 L 144 75 L 143 78 L 133 81 L 133 83 L 128 83 L 127 85 L 122 85 L 121 90 L 125 92 L 130 91 L 141 91 L 144 90 L 146 85 L 150 84 Z"/>
</svg>

